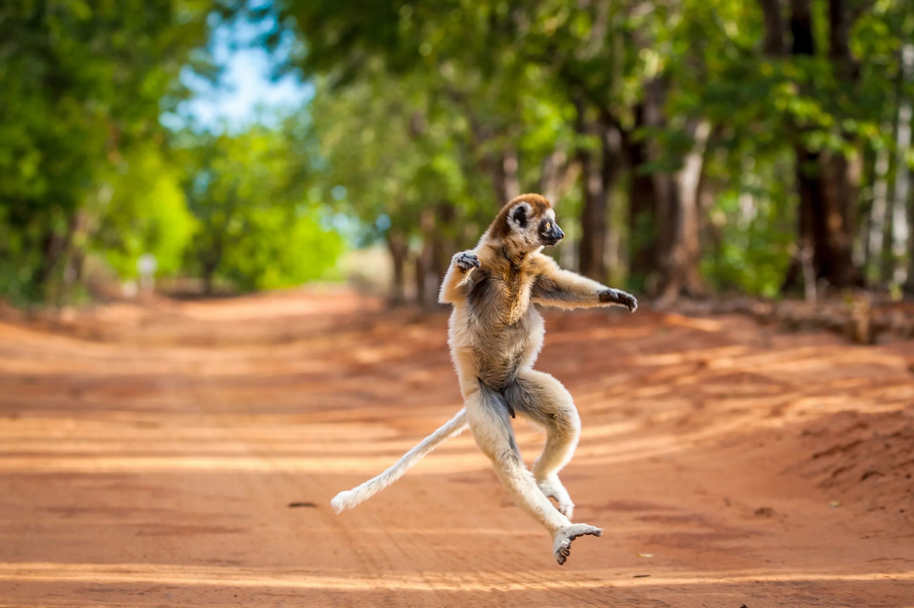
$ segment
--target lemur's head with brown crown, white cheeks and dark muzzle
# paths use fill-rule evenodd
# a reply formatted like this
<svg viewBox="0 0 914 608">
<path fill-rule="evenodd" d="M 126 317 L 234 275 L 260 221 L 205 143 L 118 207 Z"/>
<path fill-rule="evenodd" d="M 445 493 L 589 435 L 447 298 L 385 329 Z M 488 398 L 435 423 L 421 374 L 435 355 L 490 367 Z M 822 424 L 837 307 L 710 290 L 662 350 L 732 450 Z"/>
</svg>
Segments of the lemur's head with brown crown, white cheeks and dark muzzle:
<svg viewBox="0 0 914 608">
<path fill-rule="evenodd" d="M 535 251 L 555 245 L 565 233 L 558 228 L 556 212 L 545 197 L 522 194 L 499 211 L 487 234 L 517 252 Z"/>
</svg>

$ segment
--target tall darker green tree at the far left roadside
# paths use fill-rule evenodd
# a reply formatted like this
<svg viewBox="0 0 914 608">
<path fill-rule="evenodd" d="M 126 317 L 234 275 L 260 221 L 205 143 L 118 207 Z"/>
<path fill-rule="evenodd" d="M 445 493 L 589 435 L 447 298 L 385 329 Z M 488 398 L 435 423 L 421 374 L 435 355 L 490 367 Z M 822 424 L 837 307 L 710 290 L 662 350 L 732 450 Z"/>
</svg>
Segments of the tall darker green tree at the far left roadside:
<svg viewBox="0 0 914 608">
<path fill-rule="evenodd" d="M 25 302 L 61 292 L 91 240 L 80 230 L 100 224 L 88 214 L 105 208 L 107 177 L 126 173 L 118 167 L 133 146 L 161 134 L 160 112 L 184 94 L 179 71 L 207 68 L 207 17 L 238 8 L 0 5 L 0 293 Z"/>
</svg>

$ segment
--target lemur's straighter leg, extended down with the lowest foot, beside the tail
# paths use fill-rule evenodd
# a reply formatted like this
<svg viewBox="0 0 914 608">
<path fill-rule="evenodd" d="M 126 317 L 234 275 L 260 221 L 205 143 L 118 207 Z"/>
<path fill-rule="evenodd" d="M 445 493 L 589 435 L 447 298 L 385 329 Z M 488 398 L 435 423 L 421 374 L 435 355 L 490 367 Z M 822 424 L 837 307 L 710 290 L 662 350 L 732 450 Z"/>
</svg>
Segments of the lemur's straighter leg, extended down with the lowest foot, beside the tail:
<svg viewBox="0 0 914 608">
<path fill-rule="evenodd" d="M 466 414 L 476 444 L 492 460 L 495 474 L 515 505 L 552 535 L 552 552 L 559 564 L 568 559 L 572 540 L 584 535 L 602 534 L 600 528 L 572 524 L 539 490 L 521 459 L 507 404 L 500 393 L 483 388 L 467 395 Z"/>
</svg>

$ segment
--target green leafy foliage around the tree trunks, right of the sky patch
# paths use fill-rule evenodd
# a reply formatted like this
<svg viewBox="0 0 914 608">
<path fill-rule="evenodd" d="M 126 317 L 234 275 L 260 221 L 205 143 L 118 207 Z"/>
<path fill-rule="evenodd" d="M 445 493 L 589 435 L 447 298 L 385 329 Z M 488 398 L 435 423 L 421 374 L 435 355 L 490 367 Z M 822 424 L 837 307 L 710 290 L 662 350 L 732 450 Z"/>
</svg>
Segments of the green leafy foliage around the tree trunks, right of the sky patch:
<svg viewBox="0 0 914 608">
<path fill-rule="evenodd" d="M 325 102 L 333 104 L 363 91 L 360 103 L 336 107 L 331 123 L 345 123 L 350 116 L 362 133 L 390 127 L 399 135 L 390 141 L 396 141 L 402 152 L 404 146 L 417 144 L 407 134 L 410 116 L 431 124 L 440 117 L 442 137 L 427 138 L 420 158 L 433 167 L 463 171 L 462 178 L 447 178 L 447 187 L 430 182 L 432 192 L 404 187 L 403 179 L 392 176 L 403 175 L 408 181 L 421 171 L 415 157 L 398 154 L 385 158 L 385 163 L 366 163 L 368 171 L 330 172 L 345 190 L 386 185 L 388 193 L 396 192 L 396 201 L 389 195 L 369 198 L 395 206 L 405 214 L 403 223 L 414 229 L 420 224 L 418 210 L 438 197 L 470 213 L 482 206 L 491 215 L 504 197 L 498 196 L 497 185 L 488 188 L 488 196 L 479 191 L 484 185 L 472 187 L 473 178 L 487 167 L 467 161 L 514 147 L 520 189 L 542 189 L 548 155 L 570 158 L 600 147 L 593 130 L 576 129 L 576 120 L 596 124 L 605 119 L 611 123 L 608 133 L 622 133 L 632 146 L 647 146 L 645 159 L 632 163 L 631 155 L 624 154 L 618 159 L 627 163 L 629 183 L 631 176 L 678 179 L 686 155 L 696 145 L 696 123 L 707 122 L 712 134 L 701 174 L 701 194 L 707 196 L 698 210 L 700 268 L 711 287 L 776 295 L 796 259 L 794 243 L 810 238 L 798 230 L 801 208 L 813 208 L 816 216 L 845 213 L 827 209 L 834 201 L 826 200 L 822 210 L 814 197 L 801 200 L 796 176 L 811 173 L 817 180 L 815 189 L 821 191 L 813 194 L 819 197 L 833 196 L 830 189 L 845 187 L 836 186 L 844 176 L 828 174 L 829 159 L 834 157 L 851 165 L 846 176 L 860 192 L 871 191 L 874 180 L 895 179 L 895 174 L 876 176 L 872 170 L 864 170 L 861 177 L 859 162 L 874 149 L 889 148 L 895 154 L 896 137 L 887 125 L 896 123 L 901 100 L 914 95 L 914 82 L 902 78 L 900 70 L 901 48 L 914 34 L 914 12 L 907 0 L 800 0 L 791 6 L 771 2 L 778 20 L 778 30 L 771 31 L 778 40 L 769 48 L 763 5 L 733 0 L 280 4 L 287 17 L 284 23 L 292 24 L 306 42 L 298 66 L 321 79 L 319 98 L 324 95 Z M 792 10 L 798 11 L 795 16 Z M 802 20 L 803 10 L 810 19 L 805 33 L 802 25 L 795 31 L 792 26 L 794 17 Z M 806 36 L 812 44 L 809 49 L 803 48 Z M 650 91 L 657 87 L 662 91 L 661 115 L 644 118 L 654 103 Z M 410 97 L 411 105 L 384 106 L 381 100 L 393 91 L 420 95 Z M 375 111 L 381 115 L 374 116 Z M 324 143 L 336 144 L 333 135 Z M 467 149 L 471 153 L 463 155 Z M 791 158 L 801 152 L 812 155 L 817 165 L 802 167 L 801 160 Z M 449 162 L 437 160 L 439 155 Z M 342 167 L 345 161 L 331 159 L 330 164 Z M 468 186 L 473 202 L 466 205 L 453 185 Z M 579 186 L 586 187 L 583 182 Z M 680 186 L 674 181 L 673 187 Z M 632 206 L 637 193 L 611 184 L 605 191 L 607 216 L 624 220 L 626 213 L 614 209 Z M 578 191 L 565 190 L 562 195 L 572 199 Z M 676 198 L 681 194 L 674 195 L 674 206 L 679 204 Z M 566 208 L 561 200 L 556 202 L 561 215 Z M 657 228 L 667 221 L 665 204 L 654 208 L 646 223 L 622 221 L 608 228 L 605 236 L 617 243 L 620 263 L 650 246 L 657 248 L 651 252 L 657 272 L 664 272 L 664 265 L 666 272 L 683 272 L 664 260 L 675 259 L 675 249 L 652 243 L 672 238 Z M 868 239 L 872 224 L 866 215 L 869 204 L 858 200 L 856 192 L 840 204 L 847 210 L 845 233 L 816 237 L 848 241 L 841 246 L 845 251 L 827 250 L 828 243 L 820 243 L 825 248 L 821 255 L 816 250 L 819 276 L 836 284 L 853 277 L 838 276 L 837 258 L 822 256 L 849 255 L 851 241 L 857 250 L 866 251 L 861 241 Z M 358 211 L 369 219 L 391 213 L 382 207 L 371 202 Z M 669 209 L 667 213 L 678 213 Z M 678 229 L 675 220 L 670 223 L 670 230 Z M 886 239 L 891 238 L 890 229 L 884 229 Z M 855 263 L 868 267 L 879 261 L 867 257 Z"/>
</svg>

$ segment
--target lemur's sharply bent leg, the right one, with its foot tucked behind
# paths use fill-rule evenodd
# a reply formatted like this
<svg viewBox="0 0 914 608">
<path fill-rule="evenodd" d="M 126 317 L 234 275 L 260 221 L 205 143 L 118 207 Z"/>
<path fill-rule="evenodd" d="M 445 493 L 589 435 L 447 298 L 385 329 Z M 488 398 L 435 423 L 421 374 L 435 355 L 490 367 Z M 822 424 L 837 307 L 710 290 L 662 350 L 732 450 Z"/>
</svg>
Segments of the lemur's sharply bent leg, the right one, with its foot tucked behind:
<svg viewBox="0 0 914 608">
<path fill-rule="evenodd" d="M 569 463 L 580 436 L 580 418 L 571 394 L 547 373 L 521 368 L 517 379 L 505 389 L 505 398 L 532 421 L 546 429 L 546 445 L 533 464 L 533 475 L 544 495 L 555 498 L 566 517 L 574 514 L 574 502 L 558 480 L 558 472 Z"/>
</svg>

